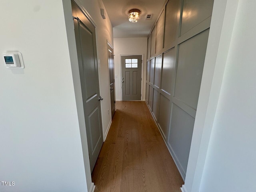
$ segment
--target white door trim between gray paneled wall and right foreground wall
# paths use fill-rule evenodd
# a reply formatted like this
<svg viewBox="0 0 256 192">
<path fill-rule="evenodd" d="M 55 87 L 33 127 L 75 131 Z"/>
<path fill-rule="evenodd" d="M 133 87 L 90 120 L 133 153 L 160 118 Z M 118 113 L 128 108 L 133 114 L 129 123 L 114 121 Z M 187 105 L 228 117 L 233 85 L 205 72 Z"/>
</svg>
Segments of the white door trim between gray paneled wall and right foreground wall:
<svg viewBox="0 0 256 192">
<path fill-rule="evenodd" d="M 239 0 L 214 0 L 188 168 L 182 192 L 198 192 Z"/>
</svg>

